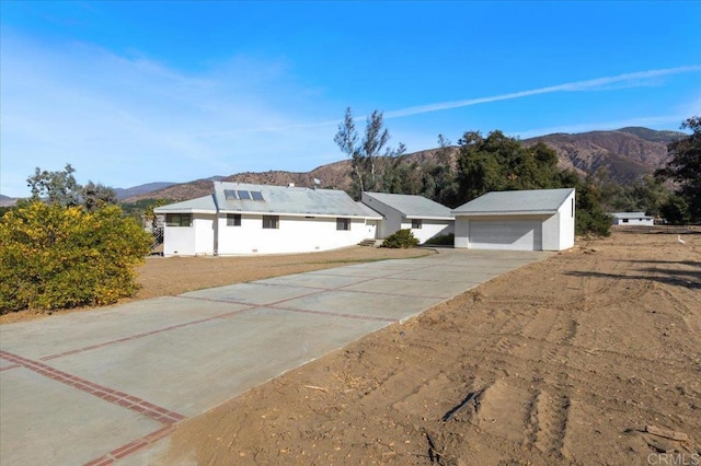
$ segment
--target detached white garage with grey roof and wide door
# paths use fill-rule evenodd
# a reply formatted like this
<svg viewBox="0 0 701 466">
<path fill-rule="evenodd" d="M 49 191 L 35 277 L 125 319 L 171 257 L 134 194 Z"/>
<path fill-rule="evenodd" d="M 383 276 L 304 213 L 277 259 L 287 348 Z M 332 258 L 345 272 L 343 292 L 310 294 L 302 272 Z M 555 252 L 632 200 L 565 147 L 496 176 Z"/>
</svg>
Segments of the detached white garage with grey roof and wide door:
<svg viewBox="0 0 701 466">
<path fill-rule="evenodd" d="M 452 210 L 456 247 L 562 251 L 574 245 L 575 190 L 487 193 Z"/>
</svg>

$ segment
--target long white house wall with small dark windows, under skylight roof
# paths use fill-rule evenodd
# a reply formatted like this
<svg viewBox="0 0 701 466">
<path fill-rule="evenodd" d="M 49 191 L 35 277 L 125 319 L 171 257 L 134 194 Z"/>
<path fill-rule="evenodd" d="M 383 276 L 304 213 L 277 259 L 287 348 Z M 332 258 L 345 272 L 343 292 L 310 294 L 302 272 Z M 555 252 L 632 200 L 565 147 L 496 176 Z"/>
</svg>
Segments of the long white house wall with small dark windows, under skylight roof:
<svg viewBox="0 0 701 466">
<path fill-rule="evenodd" d="M 350 230 L 336 230 L 335 218 L 279 215 L 278 229 L 263 229 L 263 217 L 242 214 L 241 226 L 218 218 L 219 255 L 289 254 L 353 246 L 375 237 L 375 222 L 350 219 Z"/>
</svg>

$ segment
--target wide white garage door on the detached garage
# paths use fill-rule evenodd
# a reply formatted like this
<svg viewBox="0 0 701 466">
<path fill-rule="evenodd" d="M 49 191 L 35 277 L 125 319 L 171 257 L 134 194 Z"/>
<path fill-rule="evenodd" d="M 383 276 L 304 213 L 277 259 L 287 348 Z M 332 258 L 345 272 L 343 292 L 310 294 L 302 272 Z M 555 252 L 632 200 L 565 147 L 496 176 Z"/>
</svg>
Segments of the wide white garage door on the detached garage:
<svg viewBox="0 0 701 466">
<path fill-rule="evenodd" d="M 542 251 L 540 220 L 470 220 L 473 249 Z"/>
</svg>

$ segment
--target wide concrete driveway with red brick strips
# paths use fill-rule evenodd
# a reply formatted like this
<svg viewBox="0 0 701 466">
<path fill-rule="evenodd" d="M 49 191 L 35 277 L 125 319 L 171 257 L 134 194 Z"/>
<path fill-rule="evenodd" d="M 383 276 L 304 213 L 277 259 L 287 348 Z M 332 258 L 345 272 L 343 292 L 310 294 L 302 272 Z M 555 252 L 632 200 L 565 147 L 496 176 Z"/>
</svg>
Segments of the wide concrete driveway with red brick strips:
<svg viewBox="0 0 701 466">
<path fill-rule="evenodd" d="M 549 256 L 440 249 L 3 325 L 0 464 L 150 463 L 179 421 Z"/>
</svg>

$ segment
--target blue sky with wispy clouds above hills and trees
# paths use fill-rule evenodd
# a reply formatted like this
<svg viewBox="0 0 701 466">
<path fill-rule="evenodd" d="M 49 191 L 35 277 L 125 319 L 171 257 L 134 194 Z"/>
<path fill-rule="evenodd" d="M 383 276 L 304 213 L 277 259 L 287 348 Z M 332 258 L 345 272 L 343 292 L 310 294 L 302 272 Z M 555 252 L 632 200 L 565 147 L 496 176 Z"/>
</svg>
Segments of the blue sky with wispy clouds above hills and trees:
<svg viewBox="0 0 701 466">
<path fill-rule="evenodd" d="M 0 194 L 344 158 L 346 107 L 409 152 L 701 114 L 701 2 L 0 1 Z"/>
</svg>

